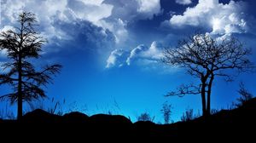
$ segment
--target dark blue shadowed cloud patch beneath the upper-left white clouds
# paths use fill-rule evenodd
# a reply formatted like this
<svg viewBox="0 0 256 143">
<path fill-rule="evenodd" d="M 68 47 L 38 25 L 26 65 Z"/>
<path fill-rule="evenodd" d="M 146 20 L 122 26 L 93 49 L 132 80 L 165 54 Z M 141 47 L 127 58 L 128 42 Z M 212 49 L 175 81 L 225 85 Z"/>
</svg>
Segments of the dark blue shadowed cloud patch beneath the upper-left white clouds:
<svg viewBox="0 0 256 143">
<path fill-rule="evenodd" d="M 66 41 L 55 39 L 55 43 L 62 43 L 62 46 L 64 44 L 66 47 L 106 52 L 115 44 L 115 37 L 111 31 L 95 26 L 90 21 L 65 23 L 60 20 L 55 21 L 54 26 L 58 31 L 65 31 L 70 39 Z"/>
</svg>

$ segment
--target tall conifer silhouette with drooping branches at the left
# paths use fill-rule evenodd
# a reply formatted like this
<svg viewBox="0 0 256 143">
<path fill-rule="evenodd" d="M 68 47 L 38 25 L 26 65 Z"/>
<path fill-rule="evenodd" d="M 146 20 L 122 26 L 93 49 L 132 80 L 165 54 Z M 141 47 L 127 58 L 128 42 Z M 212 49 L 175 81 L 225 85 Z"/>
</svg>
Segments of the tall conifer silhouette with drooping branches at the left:
<svg viewBox="0 0 256 143">
<path fill-rule="evenodd" d="M 46 43 L 35 31 L 37 26 L 35 14 L 23 12 L 19 15 L 20 27 L 0 33 L 0 49 L 6 51 L 8 62 L 2 65 L 5 69 L 0 75 L 0 85 L 9 84 L 14 93 L 1 96 L 1 100 L 9 99 L 12 104 L 18 102 L 17 117 L 22 117 L 22 102 L 46 97 L 42 86 L 52 80 L 52 75 L 60 72 L 61 65 L 45 66 L 37 72 L 32 65 L 32 58 L 38 59 L 42 45 Z"/>
</svg>

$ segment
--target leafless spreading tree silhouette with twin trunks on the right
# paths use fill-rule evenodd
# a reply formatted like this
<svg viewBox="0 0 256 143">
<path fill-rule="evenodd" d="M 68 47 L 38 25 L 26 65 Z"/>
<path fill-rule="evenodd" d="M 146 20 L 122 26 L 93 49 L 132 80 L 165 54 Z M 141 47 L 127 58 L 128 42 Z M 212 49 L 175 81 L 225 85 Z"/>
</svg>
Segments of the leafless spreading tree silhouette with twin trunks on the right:
<svg viewBox="0 0 256 143">
<path fill-rule="evenodd" d="M 227 72 L 229 69 L 247 72 L 253 68 L 253 63 L 247 59 L 251 50 L 244 49 L 235 37 L 216 40 L 207 34 L 195 34 L 180 41 L 176 49 L 166 49 L 164 54 L 164 63 L 184 67 L 189 75 L 201 81 L 199 85 L 183 84 L 166 96 L 201 94 L 203 116 L 211 112 L 212 82 L 215 77 L 226 77 L 230 81 L 232 76 Z"/>
</svg>

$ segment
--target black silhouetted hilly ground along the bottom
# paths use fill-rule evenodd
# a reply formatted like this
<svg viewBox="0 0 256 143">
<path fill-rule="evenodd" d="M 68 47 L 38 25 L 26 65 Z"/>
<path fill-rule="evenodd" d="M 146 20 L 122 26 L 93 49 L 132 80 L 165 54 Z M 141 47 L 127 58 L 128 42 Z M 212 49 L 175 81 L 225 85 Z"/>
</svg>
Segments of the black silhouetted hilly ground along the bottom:
<svg viewBox="0 0 256 143">
<path fill-rule="evenodd" d="M 60 137 L 73 139 L 113 140 L 254 140 L 256 138 L 256 99 L 230 111 L 220 111 L 210 117 L 166 125 L 131 121 L 119 115 L 98 114 L 88 117 L 79 112 L 57 116 L 35 110 L 24 115 L 22 121 L 0 120 L 4 134 L 33 136 L 37 139 Z M 121 141 L 121 142 L 124 142 Z M 208 142 L 208 141 L 207 141 Z"/>
</svg>

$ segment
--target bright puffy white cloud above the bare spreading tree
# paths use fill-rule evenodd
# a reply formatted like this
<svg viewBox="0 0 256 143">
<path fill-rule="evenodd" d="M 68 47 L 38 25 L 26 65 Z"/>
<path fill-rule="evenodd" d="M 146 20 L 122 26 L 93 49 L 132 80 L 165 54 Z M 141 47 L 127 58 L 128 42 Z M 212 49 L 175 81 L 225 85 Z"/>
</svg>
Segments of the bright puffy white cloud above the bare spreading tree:
<svg viewBox="0 0 256 143">
<path fill-rule="evenodd" d="M 194 8 L 187 8 L 179 15 L 172 16 L 171 26 L 208 26 L 214 34 L 246 32 L 247 21 L 243 13 L 246 3 L 218 3 L 218 0 L 199 0 Z"/>
</svg>

